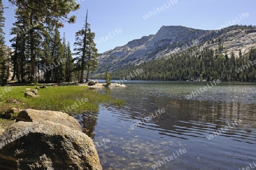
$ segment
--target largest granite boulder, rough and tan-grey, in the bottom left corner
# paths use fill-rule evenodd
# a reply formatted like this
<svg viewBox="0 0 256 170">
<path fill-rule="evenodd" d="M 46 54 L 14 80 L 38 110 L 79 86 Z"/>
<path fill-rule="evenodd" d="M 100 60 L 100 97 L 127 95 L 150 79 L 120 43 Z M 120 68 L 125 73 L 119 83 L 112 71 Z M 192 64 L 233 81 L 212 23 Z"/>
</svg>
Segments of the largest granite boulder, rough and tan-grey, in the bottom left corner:
<svg viewBox="0 0 256 170">
<path fill-rule="evenodd" d="M 55 122 L 23 122 L 0 135 L 0 169 L 102 169 L 86 134 Z"/>
</svg>

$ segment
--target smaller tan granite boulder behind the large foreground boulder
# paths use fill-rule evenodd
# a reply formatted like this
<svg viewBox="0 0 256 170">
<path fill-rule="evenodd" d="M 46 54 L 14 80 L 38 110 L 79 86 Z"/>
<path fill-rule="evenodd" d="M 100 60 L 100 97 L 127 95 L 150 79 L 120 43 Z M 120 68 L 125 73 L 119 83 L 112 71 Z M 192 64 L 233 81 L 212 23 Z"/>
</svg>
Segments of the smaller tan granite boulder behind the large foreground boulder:
<svg viewBox="0 0 256 170">
<path fill-rule="evenodd" d="M 40 121 L 52 121 L 56 122 L 69 128 L 73 128 L 79 131 L 81 130 L 81 125 L 75 118 L 69 116 L 67 113 L 57 112 L 57 111 L 38 111 L 34 109 L 24 109 L 19 112 L 16 117 L 16 122 L 40 122 Z"/>
</svg>

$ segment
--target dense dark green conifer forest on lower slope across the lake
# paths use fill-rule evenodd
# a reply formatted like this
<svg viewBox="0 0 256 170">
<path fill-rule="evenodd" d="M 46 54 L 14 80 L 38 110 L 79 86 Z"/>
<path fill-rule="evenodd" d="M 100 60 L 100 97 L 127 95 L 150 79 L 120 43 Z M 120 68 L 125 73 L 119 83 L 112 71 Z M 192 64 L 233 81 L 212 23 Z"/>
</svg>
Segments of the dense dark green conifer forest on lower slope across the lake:
<svg viewBox="0 0 256 170">
<path fill-rule="evenodd" d="M 256 80 L 256 49 L 235 58 L 200 46 L 179 54 L 154 59 L 141 65 L 123 66 L 110 73 L 112 79 L 214 80 L 250 82 Z M 143 73 L 134 71 L 143 69 Z M 135 72 L 136 73 L 136 72 Z M 131 76 L 132 75 L 132 76 Z M 128 77 L 127 77 L 128 76 Z"/>
</svg>

